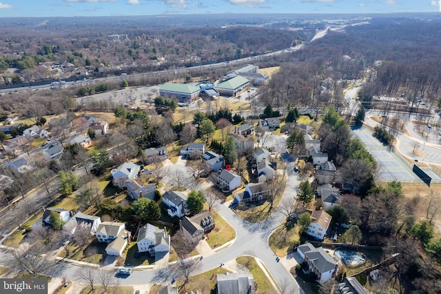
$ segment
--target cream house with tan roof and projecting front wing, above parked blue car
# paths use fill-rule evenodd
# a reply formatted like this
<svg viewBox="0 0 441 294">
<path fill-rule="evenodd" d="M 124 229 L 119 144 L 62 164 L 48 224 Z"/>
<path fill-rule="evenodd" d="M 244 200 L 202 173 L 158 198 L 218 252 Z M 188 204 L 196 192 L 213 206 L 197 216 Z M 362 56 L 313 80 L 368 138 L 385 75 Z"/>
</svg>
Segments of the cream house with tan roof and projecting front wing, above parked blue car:
<svg viewBox="0 0 441 294">
<path fill-rule="evenodd" d="M 98 242 L 107 242 L 107 255 L 122 255 L 127 242 L 130 241 L 130 232 L 125 230 L 121 222 L 102 222 L 96 229 Z"/>
</svg>

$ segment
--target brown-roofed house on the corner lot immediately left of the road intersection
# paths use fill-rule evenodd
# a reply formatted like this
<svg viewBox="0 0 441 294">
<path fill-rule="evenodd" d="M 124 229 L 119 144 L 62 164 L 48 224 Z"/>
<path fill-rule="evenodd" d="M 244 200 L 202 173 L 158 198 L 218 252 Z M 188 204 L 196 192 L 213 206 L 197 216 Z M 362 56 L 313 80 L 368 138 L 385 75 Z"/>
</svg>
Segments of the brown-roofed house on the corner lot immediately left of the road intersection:
<svg viewBox="0 0 441 294">
<path fill-rule="evenodd" d="M 212 213 L 208 210 L 203 210 L 192 217 L 184 217 L 181 220 L 181 230 L 192 243 L 199 242 L 204 234 L 212 231 L 214 226 Z"/>
</svg>

